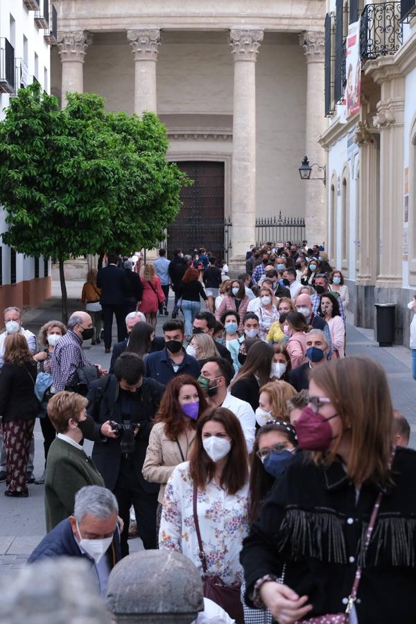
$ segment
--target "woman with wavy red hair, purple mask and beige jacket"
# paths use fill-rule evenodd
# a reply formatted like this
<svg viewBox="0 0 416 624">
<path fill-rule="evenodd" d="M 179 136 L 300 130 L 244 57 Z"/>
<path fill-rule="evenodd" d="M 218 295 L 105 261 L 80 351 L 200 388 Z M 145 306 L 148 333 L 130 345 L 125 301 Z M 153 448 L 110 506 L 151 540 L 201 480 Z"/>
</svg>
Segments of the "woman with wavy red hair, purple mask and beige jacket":
<svg viewBox="0 0 416 624">
<path fill-rule="evenodd" d="M 207 399 L 191 375 L 173 377 L 166 385 L 142 468 L 146 481 L 160 483 L 157 533 L 166 483 L 175 466 L 187 460 L 196 422 L 207 407 Z"/>
</svg>

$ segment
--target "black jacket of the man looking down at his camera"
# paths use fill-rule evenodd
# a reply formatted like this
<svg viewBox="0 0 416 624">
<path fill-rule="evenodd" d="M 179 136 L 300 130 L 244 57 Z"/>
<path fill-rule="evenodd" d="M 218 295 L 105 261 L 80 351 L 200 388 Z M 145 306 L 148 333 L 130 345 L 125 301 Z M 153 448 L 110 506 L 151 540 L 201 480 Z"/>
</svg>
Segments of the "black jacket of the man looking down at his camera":
<svg viewBox="0 0 416 624">
<path fill-rule="evenodd" d="M 153 419 L 159 408 L 159 402 L 164 392 L 164 386 L 154 379 L 143 378 L 143 385 L 140 389 L 140 397 L 137 404 L 139 409 L 132 414 L 132 421 L 141 424 L 140 431 L 136 435 L 136 449 L 133 455 L 133 465 L 135 476 L 141 487 L 148 493 L 155 493 L 159 490 L 159 485 L 149 483 L 141 474 L 146 449 L 148 447 L 150 431 L 153 427 Z M 114 375 L 109 375 L 103 379 L 98 379 L 91 384 L 88 395 L 87 412 L 92 415 L 96 422 L 94 436 L 94 449 L 92 460 L 98 471 L 105 480 L 108 489 L 114 489 L 117 477 L 119 476 L 121 463 L 120 439 L 104 437 L 100 433 L 101 425 L 107 420 L 122 423 L 121 404 L 119 395 L 119 382 Z"/>
</svg>

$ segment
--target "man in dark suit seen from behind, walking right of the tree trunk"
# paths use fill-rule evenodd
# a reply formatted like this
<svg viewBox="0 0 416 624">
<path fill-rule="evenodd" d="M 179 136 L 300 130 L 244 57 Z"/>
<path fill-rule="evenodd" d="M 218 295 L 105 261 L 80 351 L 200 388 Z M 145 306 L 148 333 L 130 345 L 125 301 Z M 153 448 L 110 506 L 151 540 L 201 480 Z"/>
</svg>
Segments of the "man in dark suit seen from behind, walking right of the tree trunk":
<svg viewBox="0 0 416 624">
<path fill-rule="evenodd" d="M 128 291 L 128 279 L 118 263 L 119 257 L 116 254 L 110 254 L 108 266 L 101 268 L 97 275 L 97 286 L 101 288 L 100 302 L 103 308 L 105 353 L 111 351 L 113 314 L 116 315 L 117 340 L 120 342 L 125 338 L 125 295 Z"/>
</svg>

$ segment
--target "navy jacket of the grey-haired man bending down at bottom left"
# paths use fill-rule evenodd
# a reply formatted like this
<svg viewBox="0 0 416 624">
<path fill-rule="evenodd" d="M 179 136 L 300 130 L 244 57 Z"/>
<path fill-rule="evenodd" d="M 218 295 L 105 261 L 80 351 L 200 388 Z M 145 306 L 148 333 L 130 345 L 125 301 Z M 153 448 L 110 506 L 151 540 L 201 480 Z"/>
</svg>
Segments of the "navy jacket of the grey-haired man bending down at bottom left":
<svg viewBox="0 0 416 624">
<path fill-rule="evenodd" d="M 111 569 L 121 560 L 120 533 L 118 528 L 114 532 L 114 537 L 106 556 Z M 85 561 L 94 564 L 86 553 L 81 553 L 68 518 L 62 520 L 45 535 L 44 539 L 36 546 L 28 558 L 28 563 L 34 563 L 37 560 L 49 557 L 82 557 Z"/>
</svg>

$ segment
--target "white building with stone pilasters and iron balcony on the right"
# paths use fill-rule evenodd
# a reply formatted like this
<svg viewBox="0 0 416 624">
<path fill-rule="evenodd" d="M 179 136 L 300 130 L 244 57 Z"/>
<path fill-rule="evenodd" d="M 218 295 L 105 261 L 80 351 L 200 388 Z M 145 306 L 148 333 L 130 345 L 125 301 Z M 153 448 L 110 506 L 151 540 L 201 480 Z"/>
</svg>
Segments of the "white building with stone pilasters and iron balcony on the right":
<svg viewBox="0 0 416 624">
<path fill-rule="evenodd" d="M 356 324 L 374 327 L 374 304 L 397 304 L 395 343 L 408 344 L 406 304 L 416 294 L 415 0 L 329 0 L 327 9 L 329 122 L 320 144 L 329 258 L 347 278 Z M 346 116 L 343 49 L 358 18 L 361 98 Z"/>
</svg>

